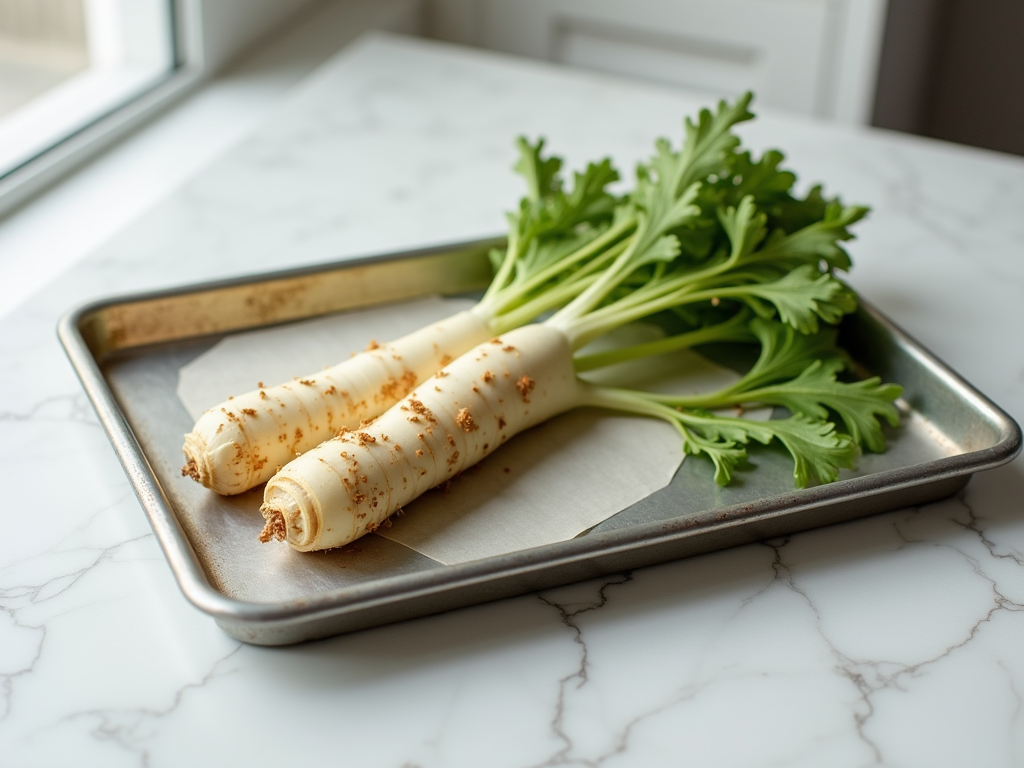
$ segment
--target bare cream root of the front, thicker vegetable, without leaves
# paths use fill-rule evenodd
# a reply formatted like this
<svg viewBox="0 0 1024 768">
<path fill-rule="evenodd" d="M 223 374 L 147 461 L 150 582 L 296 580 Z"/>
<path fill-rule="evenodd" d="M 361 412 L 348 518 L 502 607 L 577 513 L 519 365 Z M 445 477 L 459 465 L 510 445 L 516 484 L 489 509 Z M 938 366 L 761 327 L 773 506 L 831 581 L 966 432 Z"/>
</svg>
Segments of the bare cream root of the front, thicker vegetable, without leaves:
<svg viewBox="0 0 1024 768">
<path fill-rule="evenodd" d="M 582 386 L 557 328 L 524 326 L 481 344 L 271 478 L 260 540 L 300 551 L 354 541 L 513 435 L 581 404 Z"/>
</svg>

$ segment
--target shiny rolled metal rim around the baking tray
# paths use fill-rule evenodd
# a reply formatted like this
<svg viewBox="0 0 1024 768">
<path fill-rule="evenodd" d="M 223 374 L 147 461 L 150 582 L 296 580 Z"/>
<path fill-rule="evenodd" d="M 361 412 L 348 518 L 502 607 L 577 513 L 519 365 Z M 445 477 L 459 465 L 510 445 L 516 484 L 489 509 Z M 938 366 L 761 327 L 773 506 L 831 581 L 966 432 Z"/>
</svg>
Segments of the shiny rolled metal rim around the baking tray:
<svg viewBox="0 0 1024 768">
<path fill-rule="evenodd" d="M 139 499 L 158 543 L 168 564 L 174 573 L 178 587 L 185 598 L 197 608 L 208 613 L 215 620 L 225 620 L 234 625 L 265 625 L 291 624 L 300 621 L 311 622 L 331 615 L 372 608 L 375 605 L 390 602 L 396 596 L 393 586 L 400 582 L 404 587 L 400 594 L 406 599 L 416 599 L 420 596 L 444 592 L 455 587 L 466 587 L 472 584 L 482 584 L 515 575 L 542 570 L 554 565 L 567 565 L 572 561 L 586 560 L 597 554 L 634 550 L 649 547 L 654 544 L 667 544 L 675 540 L 688 538 L 708 529 L 706 524 L 689 526 L 672 526 L 667 521 L 651 522 L 600 532 L 592 538 L 571 539 L 565 542 L 538 547 L 522 552 L 510 553 L 500 557 L 446 565 L 432 568 L 418 574 L 401 574 L 386 577 L 373 583 L 339 588 L 328 592 L 310 595 L 305 598 L 295 598 L 288 601 L 252 602 L 229 597 L 218 591 L 209 581 L 203 565 L 193 548 L 187 536 L 177 521 L 176 515 L 163 494 L 159 479 L 148 464 L 141 445 L 128 425 L 120 408 L 117 406 L 113 391 L 99 371 L 99 360 L 94 357 L 81 333 L 81 324 L 90 314 L 121 303 L 134 303 L 153 299 L 173 298 L 199 291 L 213 291 L 223 288 L 252 285 L 271 280 L 289 279 L 315 274 L 325 270 L 343 269 L 362 264 L 383 261 L 409 259 L 452 252 L 457 249 L 483 248 L 488 244 L 501 242 L 499 238 L 484 238 L 470 241 L 459 241 L 451 244 L 439 244 L 406 251 L 383 251 L 366 256 L 337 259 L 319 264 L 302 265 L 283 270 L 271 270 L 255 274 L 245 274 L 205 283 L 194 283 L 173 286 L 166 289 L 127 293 L 85 302 L 67 311 L 58 321 L 57 335 L 68 354 L 72 367 L 89 396 L 93 408 L 99 416 L 101 425 L 112 439 L 118 460 L 128 475 L 127 479 L 133 492 Z M 938 369 L 950 383 L 965 394 L 970 395 L 974 404 L 987 411 L 994 424 L 1000 429 L 999 440 L 987 447 L 968 452 L 953 457 L 927 462 L 913 467 L 903 467 L 872 473 L 860 477 L 839 480 L 828 485 L 807 489 L 798 489 L 761 500 L 763 504 L 755 504 L 758 516 L 777 516 L 782 513 L 793 513 L 800 509 L 820 506 L 824 502 L 838 502 L 841 499 L 867 495 L 869 482 L 877 483 L 879 478 L 889 479 L 887 489 L 898 489 L 928 484 L 937 480 L 955 476 L 968 478 L 977 471 L 991 469 L 1013 461 L 1022 449 L 1021 428 L 1017 422 L 1001 408 L 986 395 L 971 385 L 963 376 L 942 362 L 924 345 L 899 328 L 869 301 L 859 297 L 859 304 L 887 330 L 899 337 L 914 354 L 923 357 L 932 368 Z M 100 407 L 102 406 L 102 408 Z M 122 442 L 123 441 L 123 442 Z M 129 451 L 129 449 L 131 451 Z M 920 467 L 930 468 L 927 476 L 921 476 L 912 470 Z M 142 484 L 142 487 L 139 484 Z M 144 493 L 143 493 L 144 492 Z M 872 494 L 873 495 L 873 494 Z M 153 509 L 156 507 L 156 509 Z M 735 525 L 739 520 L 729 521 L 730 510 L 743 508 L 748 522 L 752 503 L 745 502 L 715 510 L 716 515 L 724 515 L 724 520 L 718 524 Z M 155 519 L 158 517 L 162 520 Z M 697 516 L 699 518 L 699 516 Z M 511 562 L 509 562 L 511 561 Z M 410 588 L 410 582 L 413 582 Z M 417 584 L 422 582 L 422 584 Z M 345 594 L 348 599 L 339 601 L 339 596 Z"/>
</svg>

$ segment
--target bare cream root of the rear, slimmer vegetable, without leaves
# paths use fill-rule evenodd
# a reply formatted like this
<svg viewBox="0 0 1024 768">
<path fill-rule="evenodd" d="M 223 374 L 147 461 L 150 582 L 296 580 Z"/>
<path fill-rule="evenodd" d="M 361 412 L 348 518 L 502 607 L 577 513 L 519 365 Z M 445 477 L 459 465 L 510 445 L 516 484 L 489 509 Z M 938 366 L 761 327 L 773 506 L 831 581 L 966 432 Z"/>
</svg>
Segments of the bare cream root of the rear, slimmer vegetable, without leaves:
<svg viewBox="0 0 1024 768">
<path fill-rule="evenodd" d="M 470 309 L 317 374 L 233 397 L 203 414 L 185 435 L 181 472 L 218 494 L 248 490 L 297 455 L 383 413 L 493 335 Z"/>
</svg>

